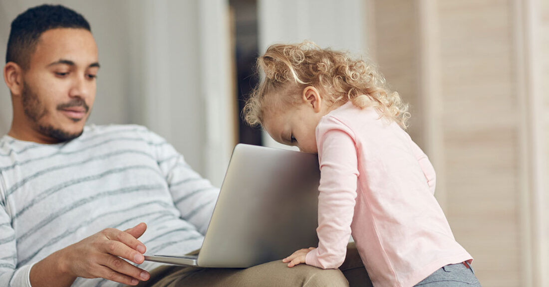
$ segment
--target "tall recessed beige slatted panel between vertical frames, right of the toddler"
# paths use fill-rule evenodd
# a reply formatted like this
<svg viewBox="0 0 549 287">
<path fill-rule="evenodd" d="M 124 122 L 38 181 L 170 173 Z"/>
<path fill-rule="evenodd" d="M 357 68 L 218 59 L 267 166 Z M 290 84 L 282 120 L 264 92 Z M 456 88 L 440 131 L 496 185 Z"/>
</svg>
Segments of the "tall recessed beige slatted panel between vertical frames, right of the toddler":
<svg viewBox="0 0 549 287">
<path fill-rule="evenodd" d="M 437 4 L 446 215 L 477 259 L 485 286 L 519 286 L 520 147 L 510 2 Z"/>
</svg>

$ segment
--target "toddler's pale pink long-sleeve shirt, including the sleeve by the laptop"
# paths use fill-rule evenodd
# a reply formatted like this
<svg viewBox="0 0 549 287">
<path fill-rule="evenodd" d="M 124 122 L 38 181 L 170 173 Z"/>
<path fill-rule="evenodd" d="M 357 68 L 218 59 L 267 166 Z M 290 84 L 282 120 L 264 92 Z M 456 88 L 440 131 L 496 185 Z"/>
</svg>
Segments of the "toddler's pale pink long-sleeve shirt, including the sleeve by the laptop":
<svg viewBox="0 0 549 287">
<path fill-rule="evenodd" d="M 398 124 L 348 102 L 320 120 L 316 140 L 320 241 L 307 265 L 339 267 L 351 234 L 374 286 L 413 286 L 472 261 L 436 202 L 433 166 Z"/>
</svg>

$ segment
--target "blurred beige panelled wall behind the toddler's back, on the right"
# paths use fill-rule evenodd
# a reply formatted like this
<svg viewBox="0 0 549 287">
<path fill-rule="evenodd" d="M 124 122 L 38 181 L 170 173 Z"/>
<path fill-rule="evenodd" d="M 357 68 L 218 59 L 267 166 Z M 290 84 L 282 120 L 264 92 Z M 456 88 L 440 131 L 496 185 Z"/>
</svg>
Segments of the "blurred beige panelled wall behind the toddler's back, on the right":
<svg viewBox="0 0 549 287">
<path fill-rule="evenodd" d="M 547 192 L 536 174 L 549 162 L 548 2 L 369 1 L 374 58 L 412 106 L 409 133 L 435 166 L 435 196 L 485 287 L 549 284 L 549 253 L 536 255 L 549 246 L 549 217 L 540 216 L 549 198 L 536 203 Z M 530 42 L 532 29 L 540 42 Z M 538 53 L 529 43 L 539 43 Z M 541 93 L 530 65 L 537 61 Z M 541 95 L 544 115 L 532 117 Z"/>
</svg>

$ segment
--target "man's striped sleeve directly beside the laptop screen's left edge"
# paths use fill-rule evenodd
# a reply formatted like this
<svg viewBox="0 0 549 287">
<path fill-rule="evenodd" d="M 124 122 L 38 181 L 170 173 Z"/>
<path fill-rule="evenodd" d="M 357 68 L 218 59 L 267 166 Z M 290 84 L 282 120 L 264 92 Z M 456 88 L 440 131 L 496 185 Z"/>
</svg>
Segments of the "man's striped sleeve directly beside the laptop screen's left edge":
<svg viewBox="0 0 549 287">
<path fill-rule="evenodd" d="M 164 140 L 153 134 L 155 141 Z M 165 141 L 165 140 L 164 140 Z M 188 165 L 183 156 L 169 143 L 156 145 L 160 169 L 166 176 L 173 203 L 181 212 L 183 220 L 191 223 L 205 234 L 219 195 L 219 188 L 201 177 Z"/>
</svg>

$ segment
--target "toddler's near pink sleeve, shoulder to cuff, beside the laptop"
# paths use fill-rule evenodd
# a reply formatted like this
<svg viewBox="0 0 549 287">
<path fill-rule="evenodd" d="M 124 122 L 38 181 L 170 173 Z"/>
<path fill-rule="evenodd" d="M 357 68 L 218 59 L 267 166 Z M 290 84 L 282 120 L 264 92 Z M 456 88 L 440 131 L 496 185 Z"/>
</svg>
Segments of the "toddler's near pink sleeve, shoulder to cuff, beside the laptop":
<svg viewBox="0 0 549 287">
<path fill-rule="evenodd" d="M 357 187 L 357 154 L 352 131 L 332 118 L 317 127 L 321 180 L 318 190 L 318 248 L 305 263 L 338 268 L 345 260 L 351 235 Z"/>
</svg>

